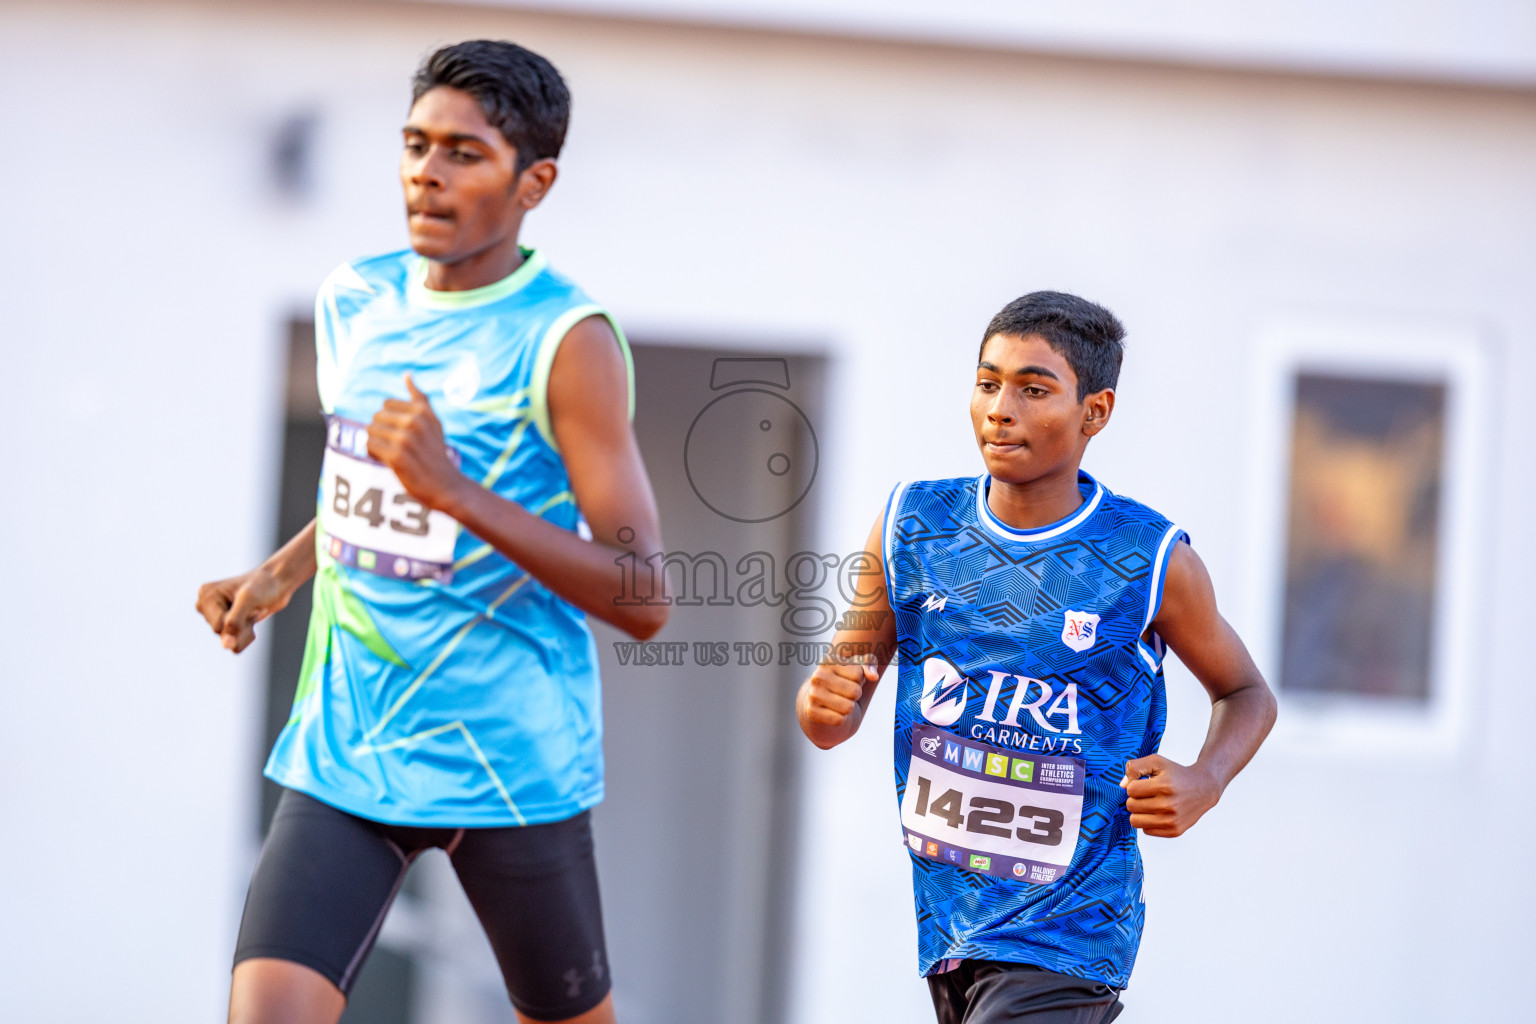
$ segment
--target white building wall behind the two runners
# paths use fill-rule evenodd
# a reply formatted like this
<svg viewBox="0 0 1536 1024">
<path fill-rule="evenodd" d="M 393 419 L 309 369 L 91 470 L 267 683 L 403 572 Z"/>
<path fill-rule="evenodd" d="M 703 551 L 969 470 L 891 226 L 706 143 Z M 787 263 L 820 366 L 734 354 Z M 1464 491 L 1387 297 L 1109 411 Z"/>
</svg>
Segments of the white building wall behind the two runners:
<svg viewBox="0 0 1536 1024">
<path fill-rule="evenodd" d="M 1536 97 L 375 3 L 0 9 L 0 1015 L 220 1013 L 260 662 L 220 651 L 192 596 L 269 545 L 283 321 L 339 259 L 402 244 L 406 77 L 475 34 L 570 78 L 530 236 L 633 333 L 834 356 L 822 550 L 862 540 L 892 481 L 977 467 L 969 361 L 1020 292 L 1127 322 L 1089 465 L 1189 528 L 1221 594 L 1243 590 L 1263 325 L 1475 325 L 1498 441 L 1473 732 L 1409 763 L 1276 748 L 1195 832 L 1147 841 L 1123 1019 L 1519 1016 Z M 310 107 L 316 193 L 284 206 L 264 147 Z M 1187 758 L 1204 699 L 1180 668 L 1170 689 L 1166 751 Z M 931 1019 L 889 700 L 846 748 L 808 751 L 799 1024 Z M 1465 860 L 1425 863 L 1439 829 Z"/>
</svg>

